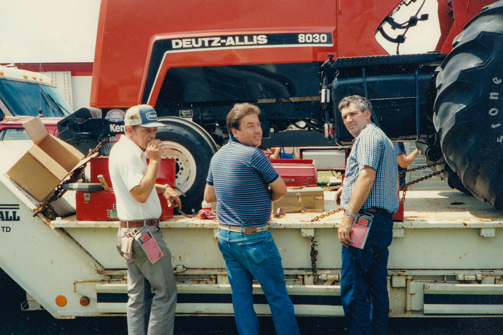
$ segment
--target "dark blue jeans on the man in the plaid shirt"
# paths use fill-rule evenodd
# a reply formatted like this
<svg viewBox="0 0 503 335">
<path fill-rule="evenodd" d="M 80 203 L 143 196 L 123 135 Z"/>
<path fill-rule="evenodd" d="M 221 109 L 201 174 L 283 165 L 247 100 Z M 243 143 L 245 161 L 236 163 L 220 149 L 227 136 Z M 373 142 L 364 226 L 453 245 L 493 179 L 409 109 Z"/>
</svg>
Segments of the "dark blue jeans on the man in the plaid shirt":
<svg viewBox="0 0 503 335">
<path fill-rule="evenodd" d="M 349 334 L 385 334 L 388 326 L 388 246 L 391 215 L 374 216 L 363 250 L 342 247 L 341 300 Z"/>
</svg>

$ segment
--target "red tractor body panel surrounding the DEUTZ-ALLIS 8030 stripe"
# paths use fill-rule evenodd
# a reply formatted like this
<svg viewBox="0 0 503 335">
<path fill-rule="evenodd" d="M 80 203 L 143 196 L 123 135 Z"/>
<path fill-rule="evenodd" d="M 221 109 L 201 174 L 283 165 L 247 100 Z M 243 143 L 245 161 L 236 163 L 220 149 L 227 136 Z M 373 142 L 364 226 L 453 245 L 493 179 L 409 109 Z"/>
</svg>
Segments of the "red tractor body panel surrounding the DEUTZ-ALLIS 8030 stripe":
<svg viewBox="0 0 503 335">
<path fill-rule="evenodd" d="M 106 108 L 139 103 L 153 44 L 162 39 L 231 36 L 235 45 L 222 48 L 220 43 L 213 50 L 211 47 L 201 51 L 192 48 L 190 52 L 186 48 L 173 50 L 165 55 L 156 83 L 162 81 L 170 67 L 323 62 L 328 54 L 336 57 L 383 55 L 386 52 L 375 41 L 375 30 L 397 3 L 275 0 L 261 6 L 225 0 L 210 6 L 201 1 L 177 4 L 104 0 L 98 26 L 91 105 Z M 323 46 L 313 45 L 316 43 L 240 45 L 249 42 L 244 36 L 281 33 L 331 36 Z M 148 102 L 155 104 L 158 89 L 158 86 L 153 87 Z"/>
</svg>

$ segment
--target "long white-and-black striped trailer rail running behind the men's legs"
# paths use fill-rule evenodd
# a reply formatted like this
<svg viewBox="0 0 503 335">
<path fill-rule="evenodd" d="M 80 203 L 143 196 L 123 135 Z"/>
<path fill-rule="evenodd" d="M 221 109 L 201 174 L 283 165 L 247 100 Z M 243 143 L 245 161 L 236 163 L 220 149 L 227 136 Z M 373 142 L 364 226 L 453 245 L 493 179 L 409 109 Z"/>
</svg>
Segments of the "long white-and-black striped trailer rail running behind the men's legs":
<svg viewBox="0 0 503 335">
<path fill-rule="evenodd" d="M 228 284 L 178 284 L 177 314 L 232 315 L 231 289 Z M 298 316 L 343 316 L 340 286 L 287 286 Z M 100 313 L 125 313 L 126 284 L 97 284 L 97 309 Z M 254 285 L 254 308 L 259 315 L 271 315 L 267 299 Z"/>
</svg>

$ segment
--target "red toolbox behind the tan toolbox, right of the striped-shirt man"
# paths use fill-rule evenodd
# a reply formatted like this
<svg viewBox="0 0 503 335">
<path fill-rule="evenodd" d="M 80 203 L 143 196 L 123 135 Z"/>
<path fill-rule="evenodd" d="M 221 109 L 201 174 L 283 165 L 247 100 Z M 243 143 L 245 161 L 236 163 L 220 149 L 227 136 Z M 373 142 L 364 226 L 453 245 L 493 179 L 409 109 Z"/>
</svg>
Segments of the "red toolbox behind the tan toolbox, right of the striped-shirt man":
<svg viewBox="0 0 503 335">
<path fill-rule="evenodd" d="M 286 186 L 318 185 L 312 159 L 271 159 L 271 163 L 285 181 Z"/>
</svg>

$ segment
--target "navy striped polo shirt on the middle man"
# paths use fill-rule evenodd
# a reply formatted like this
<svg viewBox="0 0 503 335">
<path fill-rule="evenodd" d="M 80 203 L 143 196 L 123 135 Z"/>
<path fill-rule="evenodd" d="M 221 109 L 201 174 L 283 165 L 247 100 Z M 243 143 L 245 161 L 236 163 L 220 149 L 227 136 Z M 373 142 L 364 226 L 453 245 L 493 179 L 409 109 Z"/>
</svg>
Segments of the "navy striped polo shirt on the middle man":
<svg viewBox="0 0 503 335">
<path fill-rule="evenodd" d="M 217 198 L 217 219 L 235 226 L 265 225 L 271 218 L 268 184 L 279 174 L 262 150 L 231 137 L 213 156 L 206 183 Z"/>
</svg>

